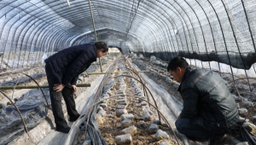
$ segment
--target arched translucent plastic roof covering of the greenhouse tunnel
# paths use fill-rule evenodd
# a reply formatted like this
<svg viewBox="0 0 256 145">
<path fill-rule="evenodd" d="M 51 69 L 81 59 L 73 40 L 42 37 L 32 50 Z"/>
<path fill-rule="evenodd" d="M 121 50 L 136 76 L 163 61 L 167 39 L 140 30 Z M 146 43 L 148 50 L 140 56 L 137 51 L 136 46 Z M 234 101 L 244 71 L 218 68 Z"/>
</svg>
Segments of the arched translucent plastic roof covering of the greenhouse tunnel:
<svg viewBox="0 0 256 145">
<path fill-rule="evenodd" d="M 37 61 L 76 44 L 95 41 L 89 2 L 2 0 L 0 52 Z M 122 52 L 181 55 L 248 69 L 256 61 L 254 0 L 91 1 L 97 38 Z M 32 53 L 35 52 L 34 58 Z M 26 64 L 25 64 L 26 65 Z M 23 65 L 22 65 L 23 66 Z M 20 66 L 19 66 L 20 67 Z"/>
</svg>

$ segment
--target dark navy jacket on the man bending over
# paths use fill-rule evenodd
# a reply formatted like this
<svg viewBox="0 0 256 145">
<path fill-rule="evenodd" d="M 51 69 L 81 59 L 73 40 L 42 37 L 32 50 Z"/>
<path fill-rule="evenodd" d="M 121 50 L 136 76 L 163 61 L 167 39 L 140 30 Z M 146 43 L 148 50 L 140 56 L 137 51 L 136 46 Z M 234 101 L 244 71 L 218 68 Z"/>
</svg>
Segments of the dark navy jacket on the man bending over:
<svg viewBox="0 0 256 145">
<path fill-rule="evenodd" d="M 80 44 L 62 49 L 49 56 L 44 62 L 50 68 L 59 84 L 76 84 L 79 74 L 83 73 L 93 61 L 96 61 L 96 46 Z"/>
</svg>

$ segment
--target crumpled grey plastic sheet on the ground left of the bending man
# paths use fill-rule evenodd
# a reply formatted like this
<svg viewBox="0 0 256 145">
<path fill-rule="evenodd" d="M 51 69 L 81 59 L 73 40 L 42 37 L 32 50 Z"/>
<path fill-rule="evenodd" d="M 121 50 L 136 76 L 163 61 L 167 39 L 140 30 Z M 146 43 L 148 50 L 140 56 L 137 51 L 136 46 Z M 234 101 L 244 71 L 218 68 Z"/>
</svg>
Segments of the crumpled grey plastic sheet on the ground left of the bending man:
<svg viewBox="0 0 256 145">
<path fill-rule="evenodd" d="M 43 89 L 50 105 L 49 89 Z M 20 96 L 15 105 L 20 109 L 26 128 L 30 129 L 42 122 L 48 113 L 42 91 L 34 89 Z M 20 115 L 13 105 L 0 111 L 0 144 L 7 144 L 25 132 Z"/>
</svg>

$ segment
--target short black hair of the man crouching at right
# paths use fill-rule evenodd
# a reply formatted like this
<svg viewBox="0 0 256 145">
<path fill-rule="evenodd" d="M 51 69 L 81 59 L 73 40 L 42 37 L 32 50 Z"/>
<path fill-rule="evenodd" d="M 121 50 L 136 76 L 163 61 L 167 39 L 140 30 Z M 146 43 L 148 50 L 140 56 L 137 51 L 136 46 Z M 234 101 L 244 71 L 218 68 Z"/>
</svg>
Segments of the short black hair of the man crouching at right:
<svg viewBox="0 0 256 145">
<path fill-rule="evenodd" d="M 183 57 L 177 56 L 169 62 L 167 71 L 176 71 L 177 67 L 181 67 L 186 70 L 189 67 L 189 63 L 185 59 L 183 59 Z"/>
</svg>

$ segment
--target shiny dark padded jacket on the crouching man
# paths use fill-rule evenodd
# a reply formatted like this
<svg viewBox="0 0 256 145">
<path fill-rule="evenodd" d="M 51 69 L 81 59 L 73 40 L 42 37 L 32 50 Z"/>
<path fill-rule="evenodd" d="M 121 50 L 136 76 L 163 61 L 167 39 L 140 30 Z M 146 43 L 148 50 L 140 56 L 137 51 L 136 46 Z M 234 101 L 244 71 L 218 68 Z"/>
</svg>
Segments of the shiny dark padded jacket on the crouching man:
<svg viewBox="0 0 256 145">
<path fill-rule="evenodd" d="M 208 131 L 221 131 L 239 119 L 236 102 L 224 80 L 212 71 L 188 68 L 178 90 L 183 96 L 180 118 Z"/>
</svg>

